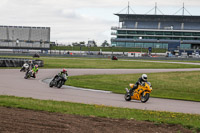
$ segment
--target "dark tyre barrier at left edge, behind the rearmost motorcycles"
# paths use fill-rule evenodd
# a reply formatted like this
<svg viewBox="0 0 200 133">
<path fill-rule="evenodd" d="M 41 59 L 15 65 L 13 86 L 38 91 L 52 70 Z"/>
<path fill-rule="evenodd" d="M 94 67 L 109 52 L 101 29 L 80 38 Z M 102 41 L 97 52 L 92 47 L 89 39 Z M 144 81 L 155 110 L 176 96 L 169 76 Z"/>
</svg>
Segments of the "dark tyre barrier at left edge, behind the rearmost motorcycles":
<svg viewBox="0 0 200 133">
<path fill-rule="evenodd" d="M 18 59 L 18 58 L 0 58 L 0 67 L 22 67 L 24 63 L 28 63 L 30 59 Z M 43 60 L 32 60 L 33 64 L 37 64 L 39 67 L 44 66 Z"/>
</svg>

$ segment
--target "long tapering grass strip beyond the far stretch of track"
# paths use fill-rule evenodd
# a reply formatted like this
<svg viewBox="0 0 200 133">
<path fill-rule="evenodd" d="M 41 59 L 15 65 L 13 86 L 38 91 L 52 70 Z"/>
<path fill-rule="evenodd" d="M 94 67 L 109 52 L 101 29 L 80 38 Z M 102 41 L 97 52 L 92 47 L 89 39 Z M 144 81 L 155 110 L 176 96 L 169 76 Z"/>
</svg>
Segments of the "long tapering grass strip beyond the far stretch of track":
<svg viewBox="0 0 200 133">
<path fill-rule="evenodd" d="M 23 57 L 20 57 L 20 58 L 23 58 Z M 27 57 L 27 58 L 30 58 L 30 57 Z M 140 62 L 136 60 L 113 61 L 110 59 L 52 58 L 52 57 L 41 57 L 39 59 L 44 61 L 43 68 L 98 68 L 98 69 L 200 68 L 199 65 Z"/>
</svg>

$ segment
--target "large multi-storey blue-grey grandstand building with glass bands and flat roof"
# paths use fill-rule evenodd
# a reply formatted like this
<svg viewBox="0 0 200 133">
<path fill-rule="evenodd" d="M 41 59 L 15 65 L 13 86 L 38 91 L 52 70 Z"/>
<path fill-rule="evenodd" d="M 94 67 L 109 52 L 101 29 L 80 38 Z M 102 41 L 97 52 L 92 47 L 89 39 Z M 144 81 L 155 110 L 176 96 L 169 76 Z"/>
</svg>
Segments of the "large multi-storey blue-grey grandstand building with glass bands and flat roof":
<svg viewBox="0 0 200 133">
<path fill-rule="evenodd" d="M 112 46 L 165 49 L 199 49 L 200 16 L 115 14 Z"/>
</svg>

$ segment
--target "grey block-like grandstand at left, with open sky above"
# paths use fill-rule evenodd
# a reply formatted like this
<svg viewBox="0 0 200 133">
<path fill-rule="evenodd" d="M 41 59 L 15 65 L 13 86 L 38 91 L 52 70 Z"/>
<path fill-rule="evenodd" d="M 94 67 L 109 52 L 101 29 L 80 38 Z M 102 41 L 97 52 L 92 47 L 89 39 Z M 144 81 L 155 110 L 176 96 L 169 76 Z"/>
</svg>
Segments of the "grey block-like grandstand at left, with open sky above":
<svg viewBox="0 0 200 133">
<path fill-rule="evenodd" d="M 50 27 L 0 26 L 0 49 L 50 49 Z"/>
</svg>

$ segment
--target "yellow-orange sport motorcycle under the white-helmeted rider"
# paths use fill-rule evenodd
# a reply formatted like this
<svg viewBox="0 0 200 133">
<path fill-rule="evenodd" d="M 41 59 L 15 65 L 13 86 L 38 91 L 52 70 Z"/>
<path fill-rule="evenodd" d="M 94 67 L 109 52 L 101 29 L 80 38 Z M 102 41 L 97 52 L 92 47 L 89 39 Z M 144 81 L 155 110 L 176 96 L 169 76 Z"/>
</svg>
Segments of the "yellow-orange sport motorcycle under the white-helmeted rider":
<svg viewBox="0 0 200 133">
<path fill-rule="evenodd" d="M 133 88 L 134 84 L 129 84 Z M 125 100 L 140 100 L 142 103 L 145 103 L 149 100 L 150 93 L 152 92 L 152 86 L 150 82 L 145 82 L 141 85 L 138 85 L 138 88 L 134 90 L 133 95 L 130 96 L 128 88 L 125 88 Z"/>
</svg>

